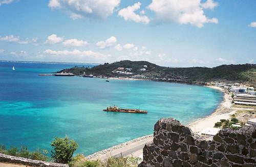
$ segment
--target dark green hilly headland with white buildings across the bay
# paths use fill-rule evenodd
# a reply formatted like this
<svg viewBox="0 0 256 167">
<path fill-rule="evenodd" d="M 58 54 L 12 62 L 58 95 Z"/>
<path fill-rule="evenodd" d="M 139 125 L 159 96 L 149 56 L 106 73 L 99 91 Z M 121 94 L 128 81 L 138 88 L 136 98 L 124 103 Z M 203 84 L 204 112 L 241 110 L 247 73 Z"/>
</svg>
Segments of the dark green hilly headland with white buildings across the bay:
<svg viewBox="0 0 256 167">
<path fill-rule="evenodd" d="M 93 75 L 99 78 L 145 79 L 204 85 L 210 81 L 230 81 L 256 84 L 256 64 L 220 65 L 208 67 L 163 67 L 148 61 L 123 60 L 94 67 L 62 69 L 57 73 Z"/>
</svg>

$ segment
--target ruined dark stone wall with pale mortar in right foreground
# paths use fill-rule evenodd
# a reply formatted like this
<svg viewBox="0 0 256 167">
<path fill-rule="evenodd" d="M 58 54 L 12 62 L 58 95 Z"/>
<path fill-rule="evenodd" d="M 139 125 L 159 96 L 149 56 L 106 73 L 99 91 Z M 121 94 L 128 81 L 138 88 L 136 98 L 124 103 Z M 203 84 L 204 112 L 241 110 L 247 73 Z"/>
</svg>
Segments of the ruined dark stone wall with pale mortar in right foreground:
<svg viewBox="0 0 256 167">
<path fill-rule="evenodd" d="M 207 140 L 163 118 L 155 124 L 153 144 L 143 149 L 143 166 L 256 166 L 256 126 L 224 129 Z"/>
</svg>

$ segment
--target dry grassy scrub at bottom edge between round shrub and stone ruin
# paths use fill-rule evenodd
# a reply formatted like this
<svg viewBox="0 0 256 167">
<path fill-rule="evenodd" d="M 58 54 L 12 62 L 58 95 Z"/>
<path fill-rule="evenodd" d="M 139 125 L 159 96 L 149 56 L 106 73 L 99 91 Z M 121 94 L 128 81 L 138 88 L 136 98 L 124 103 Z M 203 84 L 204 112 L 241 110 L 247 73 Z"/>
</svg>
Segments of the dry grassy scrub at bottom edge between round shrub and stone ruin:
<svg viewBox="0 0 256 167">
<path fill-rule="evenodd" d="M 106 161 L 87 160 L 85 157 L 73 161 L 73 167 L 135 167 L 142 161 L 139 157 L 109 157 Z"/>
</svg>

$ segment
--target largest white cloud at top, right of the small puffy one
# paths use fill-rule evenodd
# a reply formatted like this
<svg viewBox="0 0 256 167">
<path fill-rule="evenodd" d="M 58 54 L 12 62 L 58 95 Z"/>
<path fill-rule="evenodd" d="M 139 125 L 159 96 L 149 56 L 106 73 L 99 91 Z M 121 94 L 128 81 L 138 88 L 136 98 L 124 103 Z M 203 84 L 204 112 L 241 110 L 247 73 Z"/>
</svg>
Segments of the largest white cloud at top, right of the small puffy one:
<svg viewBox="0 0 256 167">
<path fill-rule="evenodd" d="M 205 23 L 218 23 L 217 18 L 208 18 L 203 7 L 213 9 L 213 1 L 201 4 L 201 0 L 153 0 L 148 8 L 155 12 L 155 21 L 168 23 L 190 24 L 202 28 Z"/>
</svg>

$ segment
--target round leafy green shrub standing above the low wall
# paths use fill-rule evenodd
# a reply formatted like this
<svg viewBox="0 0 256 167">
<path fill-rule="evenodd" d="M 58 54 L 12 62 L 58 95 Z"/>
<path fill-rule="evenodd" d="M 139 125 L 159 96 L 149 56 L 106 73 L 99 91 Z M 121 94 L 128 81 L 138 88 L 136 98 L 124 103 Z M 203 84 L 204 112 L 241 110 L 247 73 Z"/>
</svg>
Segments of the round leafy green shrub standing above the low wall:
<svg viewBox="0 0 256 167">
<path fill-rule="evenodd" d="M 72 156 L 76 151 L 78 145 L 73 139 L 55 138 L 51 144 L 53 151 L 52 158 L 58 163 L 69 163 L 72 160 Z"/>
</svg>

